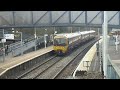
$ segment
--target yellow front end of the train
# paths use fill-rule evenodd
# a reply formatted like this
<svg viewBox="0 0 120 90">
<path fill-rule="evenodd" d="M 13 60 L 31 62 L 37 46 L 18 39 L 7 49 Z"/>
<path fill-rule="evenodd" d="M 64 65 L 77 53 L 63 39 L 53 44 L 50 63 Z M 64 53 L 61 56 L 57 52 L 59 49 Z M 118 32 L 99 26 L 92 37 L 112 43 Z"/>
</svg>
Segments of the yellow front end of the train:
<svg viewBox="0 0 120 90">
<path fill-rule="evenodd" d="M 53 49 L 57 55 L 64 55 L 68 49 L 67 38 L 55 37 Z"/>
</svg>

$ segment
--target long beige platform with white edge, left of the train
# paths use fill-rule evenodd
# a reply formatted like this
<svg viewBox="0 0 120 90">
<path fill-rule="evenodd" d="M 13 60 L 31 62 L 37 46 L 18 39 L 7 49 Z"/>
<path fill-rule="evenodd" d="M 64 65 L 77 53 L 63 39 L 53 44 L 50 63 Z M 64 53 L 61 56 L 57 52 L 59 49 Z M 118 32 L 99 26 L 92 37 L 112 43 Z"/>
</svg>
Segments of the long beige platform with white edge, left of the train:
<svg viewBox="0 0 120 90">
<path fill-rule="evenodd" d="M 46 48 L 42 48 L 37 51 L 33 51 L 27 54 L 23 54 L 22 56 L 6 58 L 4 62 L 0 62 L 0 76 L 5 73 L 7 70 L 14 68 L 22 63 L 30 61 L 38 56 L 41 56 L 45 53 L 51 52 L 53 50 L 53 46 L 49 46 Z"/>
</svg>

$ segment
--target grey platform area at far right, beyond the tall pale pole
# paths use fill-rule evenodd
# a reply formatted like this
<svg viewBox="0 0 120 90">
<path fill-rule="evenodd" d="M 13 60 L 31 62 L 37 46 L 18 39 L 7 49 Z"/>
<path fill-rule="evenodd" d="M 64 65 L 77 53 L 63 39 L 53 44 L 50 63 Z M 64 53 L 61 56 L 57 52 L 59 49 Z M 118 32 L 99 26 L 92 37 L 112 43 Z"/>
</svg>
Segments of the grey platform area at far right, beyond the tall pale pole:
<svg viewBox="0 0 120 90">
<path fill-rule="evenodd" d="M 118 38 L 120 42 L 120 37 Z M 120 79 L 120 43 L 115 45 L 115 39 L 109 40 L 107 75 L 110 79 Z"/>
</svg>

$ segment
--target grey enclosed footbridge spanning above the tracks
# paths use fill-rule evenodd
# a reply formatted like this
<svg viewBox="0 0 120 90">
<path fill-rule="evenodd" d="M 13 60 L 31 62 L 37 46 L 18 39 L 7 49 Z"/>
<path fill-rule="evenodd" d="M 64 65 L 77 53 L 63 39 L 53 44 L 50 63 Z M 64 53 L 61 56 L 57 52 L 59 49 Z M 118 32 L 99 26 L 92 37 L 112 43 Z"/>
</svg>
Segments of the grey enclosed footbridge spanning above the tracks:
<svg viewBox="0 0 120 90">
<path fill-rule="evenodd" d="M 103 11 L 0 11 L 0 28 L 102 27 Z M 108 11 L 108 27 L 120 28 L 120 11 Z"/>
</svg>

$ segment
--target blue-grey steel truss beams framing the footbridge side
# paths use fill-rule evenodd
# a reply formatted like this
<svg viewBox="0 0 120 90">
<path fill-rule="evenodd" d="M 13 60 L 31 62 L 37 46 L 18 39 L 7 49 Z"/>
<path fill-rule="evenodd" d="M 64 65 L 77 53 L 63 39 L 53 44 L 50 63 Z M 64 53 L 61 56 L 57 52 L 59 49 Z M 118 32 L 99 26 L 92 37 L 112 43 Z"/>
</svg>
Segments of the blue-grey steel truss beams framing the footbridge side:
<svg viewBox="0 0 120 90">
<path fill-rule="evenodd" d="M 31 13 L 31 17 L 30 17 L 30 23 L 29 25 L 16 25 L 16 22 L 15 22 L 15 11 L 12 11 L 12 16 L 13 16 L 13 23 L 10 24 L 8 22 L 8 20 L 6 20 L 4 17 L 1 16 L 1 19 L 3 19 L 5 22 L 7 22 L 6 24 L 7 25 L 0 25 L 0 28 L 34 28 L 34 27 L 57 27 L 57 26 L 60 26 L 60 27 L 72 27 L 72 26 L 75 26 L 75 27 L 80 27 L 80 26 L 87 26 L 87 27 L 97 27 L 97 28 L 101 28 L 102 27 L 102 24 L 103 24 L 103 19 L 104 19 L 104 13 L 103 11 L 101 11 L 102 13 L 102 16 L 101 16 L 101 20 L 102 20 L 102 23 L 101 24 L 92 24 L 91 22 L 94 21 L 94 19 L 99 15 L 99 13 L 97 13 L 97 15 L 92 18 L 92 20 L 88 23 L 88 17 L 87 17 L 87 11 L 82 11 L 75 19 L 74 21 L 71 21 L 72 20 L 72 16 L 71 16 L 71 11 L 65 11 L 63 13 L 61 13 L 61 15 L 53 22 L 53 18 L 52 18 L 52 11 L 46 11 L 40 18 L 37 19 L 37 21 L 35 21 L 34 23 L 34 18 L 33 18 L 33 11 L 30 11 Z M 49 20 L 50 22 L 49 23 L 41 23 L 41 24 L 37 24 L 42 18 L 44 18 L 44 16 L 49 12 Z M 68 12 L 68 23 L 56 23 L 57 21 L 59 21 L 66 13 Z M 85 18 L 85 23 L 75 23 L 75 21 L 85 12 L 85 16 L 83 16 L 83 18 Z M 108 27 L 110 28 L 120 28 L 120 11 L 118 11 L 117 13 L 119 13 L 119 25 L 108 25 Z M 116 14 L 117 14 L 116 13 Z M 109 22 L 114 19 L 115 15 L 114 14 L 110 19 L 109 19 Z"/>
</svg>

